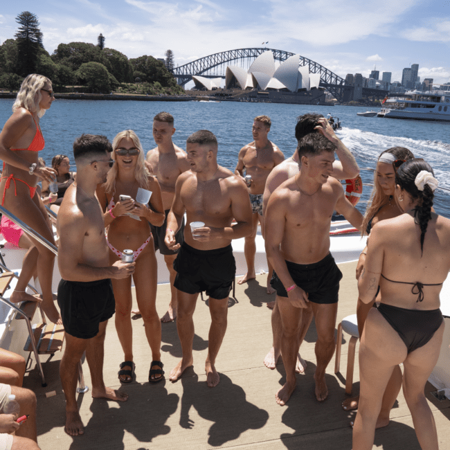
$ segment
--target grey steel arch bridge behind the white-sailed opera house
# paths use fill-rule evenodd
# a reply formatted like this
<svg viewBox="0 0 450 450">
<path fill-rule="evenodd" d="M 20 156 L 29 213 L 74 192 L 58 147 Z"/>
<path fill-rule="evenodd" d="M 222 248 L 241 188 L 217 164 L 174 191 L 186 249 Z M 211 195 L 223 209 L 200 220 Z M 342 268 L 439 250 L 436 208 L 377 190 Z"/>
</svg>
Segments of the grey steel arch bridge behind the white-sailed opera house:
<svg viewBox="0 0 450 450">
<path fill-rule="evenodd" d="M 177 78 L 178 84 L 184 86 L 192 80 L 192 75 L 201 75 L 205 78 L 225 78 L 226 67 L 229 65 L 240 65 L 243 68 L 249 67 L 259 55 L 266 51 L 273 53 L 273 59 L 283 62 L 294 53 L 276 50 L 274 48 L 237 48 L 213 55 L 201 57 L 198 60 L 183 64 L 172 69 L 174 78 Z M 236 64 L 237 62 L 237 64 Z M 309 60 L 307 57 L 300 56 L 299 66 L 308 66 L 309 73 L 320 73 L 321 82 L 319 87 L 327 89 L 339 102 L 348 102 L 353 98 L 354 86 L 345 85 L 345 80 L 318 62 Z M 363 97 L 383 98 L 388 91 L 381 89 L 362 88 Z"/>
</svg>

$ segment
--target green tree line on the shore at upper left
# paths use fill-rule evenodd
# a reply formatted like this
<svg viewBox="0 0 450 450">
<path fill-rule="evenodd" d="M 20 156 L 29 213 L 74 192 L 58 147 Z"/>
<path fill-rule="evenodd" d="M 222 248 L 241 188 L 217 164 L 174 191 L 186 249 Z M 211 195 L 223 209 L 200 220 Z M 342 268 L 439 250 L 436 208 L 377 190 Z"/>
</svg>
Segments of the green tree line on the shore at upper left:
<svg viewBox="0 0 450 450">
<path fill-rule="evenodd" d="M 150 55 L 130 58 L 114 48 L 105 47 L 100 33 L 98 44 L 70 42 L 60 44 L 50 55 L 42 45 L 37 16 L 21 12 L 15 39 L 0 46 L 0 87 L 17 90 L 29 73 L 49 78 L 54 89 L 86 86 L 93 93 L 111 91 L 136 93 L 183 93 L 172 73 L 173 53 L 165 52 L 165 61 Z"/>
</svg>

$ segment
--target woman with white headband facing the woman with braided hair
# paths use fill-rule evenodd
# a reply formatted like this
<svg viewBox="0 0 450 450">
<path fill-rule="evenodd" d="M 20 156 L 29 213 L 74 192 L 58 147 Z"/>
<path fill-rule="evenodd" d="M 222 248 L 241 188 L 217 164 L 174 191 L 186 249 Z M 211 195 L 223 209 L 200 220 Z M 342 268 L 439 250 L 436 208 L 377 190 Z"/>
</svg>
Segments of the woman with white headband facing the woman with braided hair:
<svg viewBox="0 0 450 450">
<path fill-rule="evenodd" d="M 381 220 L 392 219 L 402 214 L 402 210 L 399 208 L 394 200 L 395 192 L 395 166 L 404 163 L 408 159 L 413 159 L 414 155 L 404 147 L 392 147 L 382 152 L 377 161 L 377 168 L 374 174 L 373 190 L 370 195 L 370 201 L 366 214 L 363 219 L 362 235 L 370 234 L 372 226 L 381 222 Z M 357 280 L 361 275 L 361 271 L 366 261 L 367 246 L 359 255 L 359 261 L 357 265 Z M 375 294 L 375 293 L 374 293 Z M 377 293 L 378 294 L 378 293 Z M 359 336 L 363 335 L 364 323 L 366 322 L 367 315 L 370 309 L 375 303 L 377 295 L 374 295 L 369 303 L 363 303 L 358 298 L 357 303 L 357 320 Z M 393 375 L 386 388 L 386 393 L 383 398 L 383 404 L 381 406 L 381 412 L 377 420 L 377 428 L 386 426 L 389 423 L 390 410 L 392 409 L 395 399 L 399 394 L 400 388 L 402 388 L 402 371 L 397 366 L 393 370 Z M 358 408 L 359 397 L 352 397 L 345 399 L 342 407 L 345 411 L 352 411 Z M 350 422 L 353 425 L 353 422 Z"/>
</svg>

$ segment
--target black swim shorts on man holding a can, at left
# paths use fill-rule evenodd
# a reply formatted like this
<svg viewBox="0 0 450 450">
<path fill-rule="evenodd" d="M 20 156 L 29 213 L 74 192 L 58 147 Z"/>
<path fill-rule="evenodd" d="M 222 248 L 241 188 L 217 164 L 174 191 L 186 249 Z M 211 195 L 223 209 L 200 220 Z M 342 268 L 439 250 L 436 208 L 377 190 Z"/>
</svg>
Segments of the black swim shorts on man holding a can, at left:
<svg viewBox="0 0 450 450">
<path fill-rule="evenodd" d="M 109 278 L 90 282 L 61 280 L 57 302 L 65 332 L 80 339 L 96 336 L 100 322 L 116 311 Z"/>
</svg>

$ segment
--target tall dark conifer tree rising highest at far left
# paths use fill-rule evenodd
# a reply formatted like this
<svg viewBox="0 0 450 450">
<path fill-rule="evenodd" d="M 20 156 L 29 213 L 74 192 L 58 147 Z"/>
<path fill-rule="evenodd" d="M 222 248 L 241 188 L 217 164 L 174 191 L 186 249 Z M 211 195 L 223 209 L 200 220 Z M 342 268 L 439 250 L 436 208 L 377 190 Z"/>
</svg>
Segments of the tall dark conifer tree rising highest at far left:
<svg viewBox="0 0 450 450">
<path fill-rule="evenodd" d="M 42 33 L 39 29 L 37 15 L 29 11 L 21 12 L 16 17 L 20 25 L 15 37 L 17 38 L 17 73 L 26 76 L 35 73 L 37 55 L 42 47 Z"/>
</svg>

